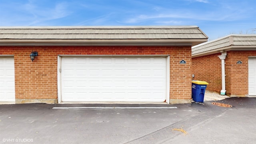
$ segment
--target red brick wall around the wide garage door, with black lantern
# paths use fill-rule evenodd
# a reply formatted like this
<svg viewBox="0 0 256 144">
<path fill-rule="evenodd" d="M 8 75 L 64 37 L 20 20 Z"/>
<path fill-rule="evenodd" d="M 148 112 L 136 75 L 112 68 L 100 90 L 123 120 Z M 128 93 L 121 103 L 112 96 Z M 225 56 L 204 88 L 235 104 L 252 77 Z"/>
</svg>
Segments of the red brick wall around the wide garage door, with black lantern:
<svg viewBox="0 0 256 144">
<path fill-rule="evenodd" d="M 32 50 L 38 52 L 33 62 Z M 14 55 L 19 99 L 57 98 L 58 54 L 170 54 L 170 98 L 191 99 L 191 46 L 0 46 L 1 54 Z"/>
</svg>

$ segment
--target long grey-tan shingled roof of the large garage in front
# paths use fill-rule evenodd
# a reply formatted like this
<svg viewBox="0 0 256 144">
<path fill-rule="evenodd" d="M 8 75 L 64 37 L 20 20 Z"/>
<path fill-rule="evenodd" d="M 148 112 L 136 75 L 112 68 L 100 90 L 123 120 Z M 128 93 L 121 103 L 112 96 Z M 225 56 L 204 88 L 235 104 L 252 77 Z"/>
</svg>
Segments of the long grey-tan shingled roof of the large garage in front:
<svg viewBox="0 0 256 144">
<path fill-rule="evenodd" d="M 207 39 L 197 26 L 0 27 L 0 45 L 11 42 L 178 42 L 193 46 Z"/>
</svg>

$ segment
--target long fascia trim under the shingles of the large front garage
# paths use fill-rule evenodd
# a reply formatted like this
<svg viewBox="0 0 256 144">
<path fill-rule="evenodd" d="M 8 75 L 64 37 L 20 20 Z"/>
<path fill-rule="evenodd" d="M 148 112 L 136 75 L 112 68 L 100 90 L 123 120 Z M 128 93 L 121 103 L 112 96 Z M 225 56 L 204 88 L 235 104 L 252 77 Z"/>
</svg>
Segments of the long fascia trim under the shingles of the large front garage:
<svg viewBox="0 0 256 144">
<path fill-rule="evenodd" d="M 197 39 L 0 39 L 0 46 L 194 46 Z"/>
</svg>

